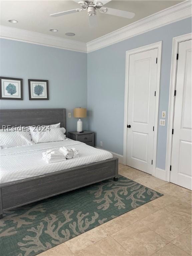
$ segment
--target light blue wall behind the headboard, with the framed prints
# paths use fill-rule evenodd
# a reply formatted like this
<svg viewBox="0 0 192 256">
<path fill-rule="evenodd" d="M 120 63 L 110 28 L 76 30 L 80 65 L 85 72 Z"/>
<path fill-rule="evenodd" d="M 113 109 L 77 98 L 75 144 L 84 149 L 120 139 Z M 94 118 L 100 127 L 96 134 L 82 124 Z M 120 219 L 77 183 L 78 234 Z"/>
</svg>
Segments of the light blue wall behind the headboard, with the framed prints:
<svg viewBox="0 0 192 256">
<path fill-rule="evenodd" d="M 23 100 L 0 100 L 2 109 L 87 107 L 86 53 L 0 39 L 0 75 L 23 78 Z M 28 79 L 49 80 L 49 100 L 29 100 Z M 67 131 L 76 122 L 67 118 Z"/>
</svg>

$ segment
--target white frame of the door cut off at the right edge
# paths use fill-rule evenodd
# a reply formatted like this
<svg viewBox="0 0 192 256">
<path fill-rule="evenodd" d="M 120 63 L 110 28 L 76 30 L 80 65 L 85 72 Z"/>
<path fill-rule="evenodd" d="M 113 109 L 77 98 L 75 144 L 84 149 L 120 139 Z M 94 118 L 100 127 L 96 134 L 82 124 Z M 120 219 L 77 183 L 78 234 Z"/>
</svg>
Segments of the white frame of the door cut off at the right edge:
<svg viewBox="0 0 192 256">
<path fill-rule="evenodd" d="M 174 106 L 175 106 L 175 97 L 174 91 L 176 87 L 176 76 L 177 76 L 177 53 L 179 50 L 179 43 L 190 40 L 192 33 L 173 37 L 173 46 L 172 46 L 172 59 L 171 59 L 171 76 L 170 76 L 170 89 L 169 89 L 169 115 L 168 115 L 168 124 L 167 124 L 167 154 L 166 154 L 166 181 L 170 181 L 170 165 L 171 165 L 171 149 L 172 149 L 172 128 L 174 121 Z"/>
</svg>

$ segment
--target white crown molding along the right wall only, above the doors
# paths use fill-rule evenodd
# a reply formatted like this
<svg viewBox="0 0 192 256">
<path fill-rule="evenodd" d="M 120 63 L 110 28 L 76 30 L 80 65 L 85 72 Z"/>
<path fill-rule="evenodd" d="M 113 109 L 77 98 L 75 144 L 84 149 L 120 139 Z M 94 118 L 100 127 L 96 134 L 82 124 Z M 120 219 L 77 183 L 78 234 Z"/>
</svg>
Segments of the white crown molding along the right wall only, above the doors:
<svg viewBox="0 0 192 256">
<path fill-rule="evenodd" d="M 191 3 L 190 0 L 184 1 L 90 41 L 87 43 L 87 52 L 104 48 L 155 28 L 191 17 Z"/>
</svg>

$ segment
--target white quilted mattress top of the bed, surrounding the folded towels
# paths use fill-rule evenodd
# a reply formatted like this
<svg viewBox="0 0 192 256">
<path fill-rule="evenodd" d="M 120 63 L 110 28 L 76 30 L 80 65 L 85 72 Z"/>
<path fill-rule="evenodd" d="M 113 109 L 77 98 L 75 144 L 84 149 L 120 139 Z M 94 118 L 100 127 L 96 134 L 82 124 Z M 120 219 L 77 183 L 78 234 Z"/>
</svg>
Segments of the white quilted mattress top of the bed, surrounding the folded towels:
<svg viewBox="0 0 192 256">
<path fill-rule="evenodd" d="M 42 153 L 48 149 L 73 146 L 79 151 L 79 158 L 48 164 L 42 159 Z M 25 179 L 37 175 L 90 164 L 112 158 L 106 151 L 86 145 L 85 143 L 66 140 L 38 143 L 30 146 L 14 147 L 0 150 L 0 183 Z"/>
</svg>

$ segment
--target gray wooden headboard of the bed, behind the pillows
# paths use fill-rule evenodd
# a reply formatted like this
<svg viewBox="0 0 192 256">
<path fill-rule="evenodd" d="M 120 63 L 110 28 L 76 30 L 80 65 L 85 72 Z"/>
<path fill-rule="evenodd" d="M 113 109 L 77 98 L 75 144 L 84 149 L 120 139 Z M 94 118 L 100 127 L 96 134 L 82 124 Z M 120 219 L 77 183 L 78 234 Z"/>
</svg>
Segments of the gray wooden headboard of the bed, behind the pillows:
<svg viewBox="0 0 192 256">
<path fill-rule="evenodd" d="M 51 125 L 61 123 L 60 127 L 66 129 L 65 108 L 43 108 L 43 109 L 1 109 L 0 129 L 2 125 L 29 126 L 29 125 Z"/>
</svg>

